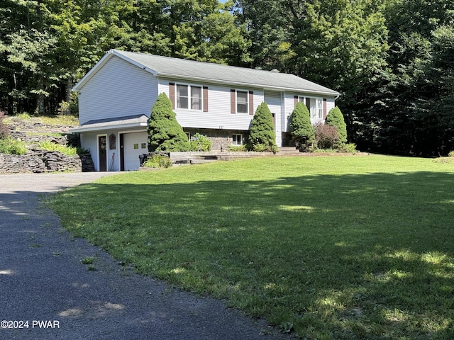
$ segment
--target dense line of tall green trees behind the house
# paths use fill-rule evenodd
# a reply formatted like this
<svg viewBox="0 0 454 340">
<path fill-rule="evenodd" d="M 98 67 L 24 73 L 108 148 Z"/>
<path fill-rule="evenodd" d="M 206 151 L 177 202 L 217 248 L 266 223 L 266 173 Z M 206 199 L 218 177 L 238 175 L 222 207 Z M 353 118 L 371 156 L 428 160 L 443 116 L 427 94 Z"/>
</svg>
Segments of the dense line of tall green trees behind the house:
<svg viewBox="0 0 454 340">
<path fill-rule="evenodd" d="M 76 81 L 117 48 L 279 69 L 339 91 L 358 149 L 454 149 L 448 0 L 4 0 L 0 109 L 74 108 Z M 75 109 L 75 108 L 74 108 Z"/>
</svg>

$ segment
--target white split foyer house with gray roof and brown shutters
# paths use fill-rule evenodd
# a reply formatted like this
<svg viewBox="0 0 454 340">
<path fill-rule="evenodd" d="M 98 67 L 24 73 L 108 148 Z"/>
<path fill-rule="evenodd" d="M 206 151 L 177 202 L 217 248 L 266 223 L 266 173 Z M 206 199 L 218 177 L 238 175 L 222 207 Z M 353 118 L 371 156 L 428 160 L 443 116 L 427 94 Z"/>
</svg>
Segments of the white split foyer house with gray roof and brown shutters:
<svg viewBox="0 0 454 340">
<path fill-rule="evenodd" d="M 292 74 L 110 50 L 75 86 L 79 132 L 96 171 L 137 170 L 148 153 L 148 118 L 157 95 L 172 101 L 188 138 L 196 132 L 212 149 L 241 145 L 255 110 L 266 102 L 278 147 L 289 143 L 289 116 L 301 101 L 311 122 L 326 118 L 339 93 Z"/>
</svg>

